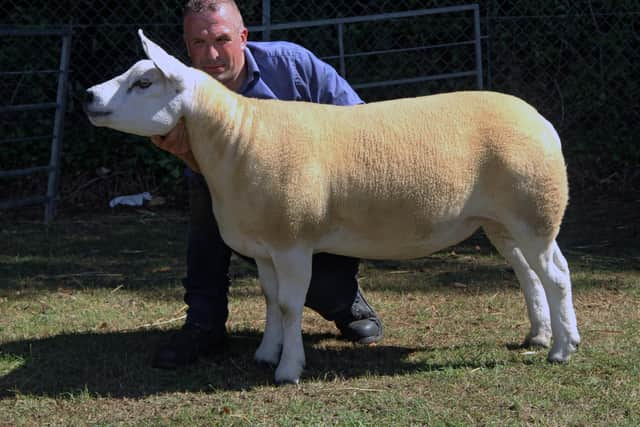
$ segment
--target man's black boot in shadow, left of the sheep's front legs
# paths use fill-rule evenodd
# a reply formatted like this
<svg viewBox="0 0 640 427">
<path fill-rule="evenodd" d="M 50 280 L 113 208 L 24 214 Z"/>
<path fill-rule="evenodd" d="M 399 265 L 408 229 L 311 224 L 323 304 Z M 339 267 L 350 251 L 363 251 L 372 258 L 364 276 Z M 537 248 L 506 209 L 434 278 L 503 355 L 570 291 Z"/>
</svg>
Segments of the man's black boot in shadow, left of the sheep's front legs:
<svg viewBox="0 0 640 427">
<path fill-rule="evenodd" d="M 171 335 L 169 342 L 156 351 L 152 366 L 160 369 L 176 369 L 195 363 L 201 356 L 209 356 L 223 348 L 227 334 L 207 331 L 197 325 L 185 323 Z"/>
</svg>

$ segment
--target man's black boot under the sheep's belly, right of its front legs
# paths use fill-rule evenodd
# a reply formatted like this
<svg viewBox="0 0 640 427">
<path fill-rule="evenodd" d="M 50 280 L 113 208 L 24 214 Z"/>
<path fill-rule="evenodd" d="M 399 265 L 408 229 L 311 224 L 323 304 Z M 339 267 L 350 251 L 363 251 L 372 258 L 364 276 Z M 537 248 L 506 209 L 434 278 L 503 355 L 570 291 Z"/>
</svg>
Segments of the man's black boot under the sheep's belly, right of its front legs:
<svg viewBox="0 0 640 427">
<path fill-rule="evenodd" d="M 384 335 L 382 322 L 360 289 L 350 309 L 338 315 L 335 322 L 345 339 L 358 344 L 378 342 Z"/>
</svg>

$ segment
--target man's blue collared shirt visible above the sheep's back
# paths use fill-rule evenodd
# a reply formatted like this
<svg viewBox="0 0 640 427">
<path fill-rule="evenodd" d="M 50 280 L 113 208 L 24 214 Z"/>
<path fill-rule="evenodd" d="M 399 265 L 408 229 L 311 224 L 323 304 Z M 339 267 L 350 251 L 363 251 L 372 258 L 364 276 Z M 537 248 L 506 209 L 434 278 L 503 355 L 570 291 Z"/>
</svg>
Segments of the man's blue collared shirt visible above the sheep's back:
<svg viewBox="0 0 640 427">
<path fill-rule="evenodd" d="M 248 42 L 247 79 L 238 91 L 251 98 L 353 105 L 363 101 L 338 72 L 288 42 Z"/>
</svg>

